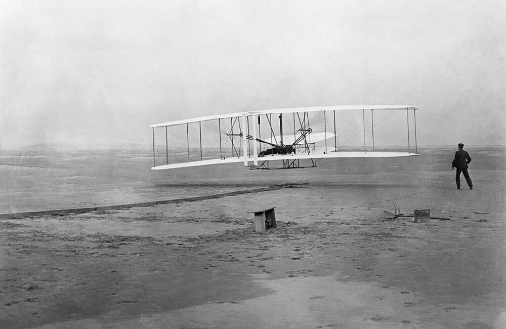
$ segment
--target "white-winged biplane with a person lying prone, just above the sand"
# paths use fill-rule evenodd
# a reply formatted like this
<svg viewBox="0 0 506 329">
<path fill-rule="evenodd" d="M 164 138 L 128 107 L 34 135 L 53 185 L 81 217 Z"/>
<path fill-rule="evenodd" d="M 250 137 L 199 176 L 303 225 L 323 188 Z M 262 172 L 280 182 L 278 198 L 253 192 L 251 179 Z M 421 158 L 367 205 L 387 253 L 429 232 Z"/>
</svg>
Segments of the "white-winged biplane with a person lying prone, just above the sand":
<svg viewBox="0 0 506 329">
<path fill-rule="evenodd" d="M 289 169 L 303 168 L 301 160 L 310 161 L 307 163 L 310 163 L 311 167 L 316 167 L 316 160 L 323 158 L 416 156 L 419 155 L 416 142 L 416 110 L 417 107 L 410 105 L 319 106 L 254 110 L 162 122 L 150 126 L 153 135 L 151 169 L 188 168 L 234 162 L 242 162 L 243 166 L 250 169 Z M 377 135 L 374 131 L 375 115 L 381 111 L 400 113 L 404 118 L 405 132 L 402 132 L 404 129 L 399 126 L 387 128 L 387 132 L 407 137 L 407 150 L 378 149 L 378 145 L 375 145 L 374 137 Z M 357 132 L 363 130 L 363 149 L 341 150 L 338 147 L 340 132 L 336 129 L 336 122 L 339 122 L 339 114 L 344 112 L 359 115 L 359 120 L 355 121 L 355 124 L 360 129 L 356 128 L 354 134 L 361 135 Z M 413 133 L 410 133 L 409 125 L 413 120 L 414 152 L 411 150 L 410 137 Z M 204 125 L 206 130 L 202 133 Z M 168 130 L 176 128 L 179 131 L 172 139 L 178 141 L 179 149 L 176 152 L 171 148 L 170 152 L 171 139 L 168 137 Z M 155 129 L 165 130 L 165 154 L 163 154 L 165 163 L 158 165 L 155 154 Z M 367 139 L 369 145 L 366 143 Z M 190 147 L 190 140 L 193 147 Z M 210 141 L 215 141 L 214 147 L 209 146 Z M 158 155 L 158 159 L 161 157 Z M 269 162 L 272 161 L 278 166 L 269 166 Z"/>
</svg>

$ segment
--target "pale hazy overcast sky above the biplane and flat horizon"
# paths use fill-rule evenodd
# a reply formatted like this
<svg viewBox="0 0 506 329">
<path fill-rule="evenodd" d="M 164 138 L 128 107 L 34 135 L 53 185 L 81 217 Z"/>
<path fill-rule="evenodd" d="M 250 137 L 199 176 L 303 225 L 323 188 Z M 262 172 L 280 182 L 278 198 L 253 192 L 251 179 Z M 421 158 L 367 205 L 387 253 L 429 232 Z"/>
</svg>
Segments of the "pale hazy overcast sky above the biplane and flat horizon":
<svg viewBox="0 0 506 329">
<path fill-rule="evenodd" d="M 503 145 L 504 3 L 0 0 L 0 148 L 350 104 L 419 107 L 419 145 Z"/>
</svg>

